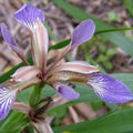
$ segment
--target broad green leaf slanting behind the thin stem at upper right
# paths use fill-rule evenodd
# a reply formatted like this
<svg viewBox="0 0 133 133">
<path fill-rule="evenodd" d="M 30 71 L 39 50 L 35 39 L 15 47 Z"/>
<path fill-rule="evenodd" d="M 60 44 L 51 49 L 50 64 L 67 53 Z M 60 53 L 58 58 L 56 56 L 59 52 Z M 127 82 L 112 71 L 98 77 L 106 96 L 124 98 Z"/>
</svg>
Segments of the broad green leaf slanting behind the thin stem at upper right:
<svg viewBox="0 0 133 133">
<path fill-rule="evenodd" d="M 111 29 L 111 25 L 106 24 L 100 19 L 94 18 L 91 14 L 88 14 L 83 10 L 68 3 L 64 0 L 52 0 L 58 7 L 60 7 L 62 10 L 64 10 L 66 13 L 72 16 L 73 18 L 83 21 L 85 19 L 92 19 L 95 24 L 96 24 L 96 32 L 103 31 Z M 129 53 L 131 57 L 133 57 L 133 42 L 125 38 L 122 33 L 120 32 L 109 32 L 109 33 L 103 33 L 103 38 L 108 41 L 111 41 L 113 44 L 120 47 L 123 49 L 126 53 Z"/>
</svg>

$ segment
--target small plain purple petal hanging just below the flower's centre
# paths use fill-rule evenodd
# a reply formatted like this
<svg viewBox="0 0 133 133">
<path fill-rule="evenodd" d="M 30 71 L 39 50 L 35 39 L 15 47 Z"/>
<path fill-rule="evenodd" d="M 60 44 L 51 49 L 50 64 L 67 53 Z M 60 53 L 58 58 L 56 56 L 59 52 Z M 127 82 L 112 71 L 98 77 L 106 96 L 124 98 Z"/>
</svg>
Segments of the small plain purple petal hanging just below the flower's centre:
<svg viewBox="0 0 133 133">
<path fill-rule="evenodd" d="M 80 94 L 75 92 L 73 89 L 63 84 L 57 85 L 55 90 L 58 91 L 58 94 L 60 96 L 68 100 L 78 99 L 80 96 Z"/>
</svg>

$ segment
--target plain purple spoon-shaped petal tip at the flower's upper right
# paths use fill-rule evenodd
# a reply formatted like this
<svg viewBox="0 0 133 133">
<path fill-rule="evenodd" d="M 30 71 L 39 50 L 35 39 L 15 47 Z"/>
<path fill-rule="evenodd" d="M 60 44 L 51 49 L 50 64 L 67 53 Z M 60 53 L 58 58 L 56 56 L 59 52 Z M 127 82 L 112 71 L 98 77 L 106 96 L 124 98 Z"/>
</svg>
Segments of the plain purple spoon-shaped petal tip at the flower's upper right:
<svg viewBox="0 0 133 133">
<path fill-rule="evenodd" d="M 85 20 L 81 22 L 73 32 L 71 40 L 72 48 L 89 41 L 94 34 L 94 30 L 95 30 L 95 24 L 92 20 Z"/>
</svg>

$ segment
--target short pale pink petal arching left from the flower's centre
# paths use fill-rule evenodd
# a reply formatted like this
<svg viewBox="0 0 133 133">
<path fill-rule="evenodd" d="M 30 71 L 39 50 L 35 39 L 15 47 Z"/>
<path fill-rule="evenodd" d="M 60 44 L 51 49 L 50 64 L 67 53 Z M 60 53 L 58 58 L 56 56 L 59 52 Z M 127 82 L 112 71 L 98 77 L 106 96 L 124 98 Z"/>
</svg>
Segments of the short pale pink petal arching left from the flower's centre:
<svg viewBox="0 0 133 133">
<path fill-rule="evenodd" d="M 41 71 L 37 66 L 22 66 L 18 69 L 12 75 L 12 80 L 16 82 L 31 82 L 32 80 L 39 81 L 38 78 Z"/>
</svg>

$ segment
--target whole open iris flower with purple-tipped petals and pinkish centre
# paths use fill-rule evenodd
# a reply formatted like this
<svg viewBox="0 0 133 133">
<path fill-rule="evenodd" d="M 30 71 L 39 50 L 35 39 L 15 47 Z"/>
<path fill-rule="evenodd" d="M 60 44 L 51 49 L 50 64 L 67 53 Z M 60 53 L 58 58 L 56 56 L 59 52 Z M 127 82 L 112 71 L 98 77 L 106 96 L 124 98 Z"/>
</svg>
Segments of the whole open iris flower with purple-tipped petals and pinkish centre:
<svg viewBox="0 0 133 133">
<path fill-rule="evenodd" d="M 84 83 L 91 86 L 95 94 L 106 102 L 125 103 L 133 100 L 133 95 L 125 84 L 108 74 L 100 73 L 96 66 L 83 61 L 61 63 L 61 60 L 69 52 L 93 37 L 95 24 L 92 20 L 84 20 L 75 28 L 70 44 L 48 65 L 49 35 L 43 25 L 43 12 L 24 3 L 14 13 L 14 19 L 31 33 L 31 51 L 34 65 L 27 62 L 16 39 L 6 24 L 2 23 L 1 32 L 4 41 L 27 63 L 27 66 L 18 69 L 10 80 L 0 84 L 0 120 L 8 115 L 20 91 L 40 82 L 51 85 L 60 96 L 68 100 L 79 99 L 80 94 L 65 85 L 65 82 Z"/>
</svg>

